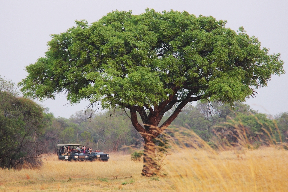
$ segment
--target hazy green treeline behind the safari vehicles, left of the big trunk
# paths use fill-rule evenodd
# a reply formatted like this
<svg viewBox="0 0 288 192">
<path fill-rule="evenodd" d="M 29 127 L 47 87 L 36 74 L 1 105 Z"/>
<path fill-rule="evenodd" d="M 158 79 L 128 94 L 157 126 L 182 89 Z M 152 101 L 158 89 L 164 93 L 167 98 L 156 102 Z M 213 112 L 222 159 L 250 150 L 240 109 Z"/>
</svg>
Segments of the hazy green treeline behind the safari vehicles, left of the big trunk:
<svg viewBox="0 0 288 192">
<path fill-rule="evenodd" d="M 121 111 L 97 113 L 90 122 L 84 112 L 76 112 L 69 119 L 55 118 L 46 128 L 44 140 L 49 141 L 49 149 L 55 150 L 58 143 L 80 143 L 93 150 L 120 151 L 124 146 L 139 148 L 143 144 L 141 135 L 134 129 L 130 119 Z"/>
</svg>

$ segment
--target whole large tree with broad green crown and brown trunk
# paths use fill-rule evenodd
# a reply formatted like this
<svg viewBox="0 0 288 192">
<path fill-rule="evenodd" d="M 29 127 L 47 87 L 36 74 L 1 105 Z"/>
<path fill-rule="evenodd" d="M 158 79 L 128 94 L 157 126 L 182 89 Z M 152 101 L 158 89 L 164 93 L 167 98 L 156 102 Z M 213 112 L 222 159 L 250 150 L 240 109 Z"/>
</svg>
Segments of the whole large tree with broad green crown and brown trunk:
<svg viewBox="0 0 288 192">
<path fill-rule="evenodd" d="M 272 74 L 284 73 L 279 53 L 269 55 L 243 27 L 235 32 L 225 23 L 153 9 L 140 15 L 113 11 L 91 25 L 76 21 L 66 32 L 52 35 L 46 56 L 26 67 L 22 92 L 43 100 L 64 91 L 71 103 L 84 99 L 106 109 L 130 110 L 131 122 L 145 140 L 142 174 L 150 176 L 156 170 L 153 139 L 187 103 L 244 101 L 266 86 Z"/>
</svg>

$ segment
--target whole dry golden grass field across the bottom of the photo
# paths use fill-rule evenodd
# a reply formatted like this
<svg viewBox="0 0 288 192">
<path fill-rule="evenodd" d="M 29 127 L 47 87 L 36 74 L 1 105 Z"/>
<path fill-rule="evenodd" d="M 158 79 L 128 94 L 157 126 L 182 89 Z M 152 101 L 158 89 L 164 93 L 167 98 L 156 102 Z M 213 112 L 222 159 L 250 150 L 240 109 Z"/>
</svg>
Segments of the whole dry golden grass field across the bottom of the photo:
<svg viewBox="0 0 288 192">
<path fill-rule="evenodd" d="M 58 161 L 40 169 L 0 170 L 0 191 L 287 191 L 288 151 L 277 146 L 215 152 L 182 149 L 162 176 L 141 176 L 143 162 L 111 154 L 108 162 Z"/>
</svg>

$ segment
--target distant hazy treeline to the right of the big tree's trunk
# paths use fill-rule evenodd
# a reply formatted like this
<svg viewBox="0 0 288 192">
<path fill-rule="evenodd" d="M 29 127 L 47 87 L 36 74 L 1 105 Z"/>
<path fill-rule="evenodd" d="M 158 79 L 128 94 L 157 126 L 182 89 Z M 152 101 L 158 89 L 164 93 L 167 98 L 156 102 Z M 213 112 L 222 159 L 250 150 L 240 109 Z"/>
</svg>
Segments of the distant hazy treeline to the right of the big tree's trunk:
<svg viewBox="0 0 288 192">
<path fill-rule="evenodd" d="M 168 114 L 169 115 L 169 114 Z M 188 127 L 205 141 L 228 141 L 237 143 L 235 129 L 245 129 L 250 143 L 264 144 L 267 139 L 280 142 L 288 141 L 287 113 L 281 113 L 275 119 L 267 114 L 258 113 L 250 106 L 235 103 L 234 109 L 222 102 L 198 102 L 196 106 L 187 105 L 170 127 Z M 279 127 L 280 135 L 276 126 Z M 269 136 L 269 134 L 270 136 Z M 271 138 L 270 138 L 271 137 Z"/>
</svg>

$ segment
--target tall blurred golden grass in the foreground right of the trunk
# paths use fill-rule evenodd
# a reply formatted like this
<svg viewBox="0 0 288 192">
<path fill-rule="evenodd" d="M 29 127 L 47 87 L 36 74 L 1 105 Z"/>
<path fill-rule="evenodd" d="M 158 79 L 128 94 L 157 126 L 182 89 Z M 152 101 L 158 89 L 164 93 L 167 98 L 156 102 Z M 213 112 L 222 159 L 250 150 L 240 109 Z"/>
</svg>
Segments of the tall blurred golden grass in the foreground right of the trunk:
<svg viewBox="0 0 288 192">
<path fill-rule="evenodd" d="M 177 159 L 174 162 L 171 159 L 173 156 Z M 187 150 L 173 156 L 164 169 L 177 191 L 288 189 L 288 152 L 283 149 L 266 147 L 219 154 Z"/>
</svg>

